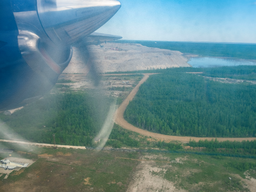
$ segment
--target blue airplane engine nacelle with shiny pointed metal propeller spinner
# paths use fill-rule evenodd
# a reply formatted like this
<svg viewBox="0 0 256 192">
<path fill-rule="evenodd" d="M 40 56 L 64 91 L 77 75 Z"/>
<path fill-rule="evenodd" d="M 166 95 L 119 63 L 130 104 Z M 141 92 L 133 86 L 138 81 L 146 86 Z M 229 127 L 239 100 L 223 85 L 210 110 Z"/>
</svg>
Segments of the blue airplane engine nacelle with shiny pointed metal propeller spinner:
<svg viewBox="0 0 256 192">
<path fill-rule="evenodd" d="M 116 0 L 2 0 L 0 110 L 47 93 L 72 57 L 71 45 L 105 24 Z"/>
</svg>

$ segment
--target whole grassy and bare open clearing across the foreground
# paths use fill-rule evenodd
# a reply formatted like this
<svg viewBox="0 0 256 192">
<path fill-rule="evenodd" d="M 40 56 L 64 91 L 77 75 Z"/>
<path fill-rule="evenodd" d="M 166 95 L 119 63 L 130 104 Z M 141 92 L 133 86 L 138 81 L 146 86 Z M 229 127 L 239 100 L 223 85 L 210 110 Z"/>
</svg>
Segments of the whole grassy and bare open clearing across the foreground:
<svg viewBox="0 0 256 192">
<path fill-rule="evenodd" d="M 255 191 L 255 170 L 244 173 L 229 166 L 253 159 L 38 146 L 28 153 L 31 146 L 6 142 L 0 142 L 0 147 L 13 148 L 15 158 L 36 160 L 7 179 L 0 174 L 1 192 Z M 7 155 L 0 153 L 1 158 Z"/>
</svg>

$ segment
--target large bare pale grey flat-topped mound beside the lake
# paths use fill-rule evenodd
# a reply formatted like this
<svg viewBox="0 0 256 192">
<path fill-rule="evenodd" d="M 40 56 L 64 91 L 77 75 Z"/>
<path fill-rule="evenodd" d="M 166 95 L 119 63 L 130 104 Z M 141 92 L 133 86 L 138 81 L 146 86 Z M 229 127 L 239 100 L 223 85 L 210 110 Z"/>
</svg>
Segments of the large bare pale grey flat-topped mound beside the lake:
<svg viewBox="0 0 256 192">
<path fill-rule="evenodd" d="M 103 45 L 103 48 L 96 45 L 89 46 L 94 67 L 101 73 L 191 66 L 187 63 L 188 57 L 184 57 L 179 51 L 150 48 L 140 44 L 106 43 Z M 113 50 L 116 47 L 121 49 Z M 83 53 L 83 50 L 73 47 L 72 59 L 63 73 L 88 73 L 91 66 L 84 63 L 80 53 Z"/>
</svg>

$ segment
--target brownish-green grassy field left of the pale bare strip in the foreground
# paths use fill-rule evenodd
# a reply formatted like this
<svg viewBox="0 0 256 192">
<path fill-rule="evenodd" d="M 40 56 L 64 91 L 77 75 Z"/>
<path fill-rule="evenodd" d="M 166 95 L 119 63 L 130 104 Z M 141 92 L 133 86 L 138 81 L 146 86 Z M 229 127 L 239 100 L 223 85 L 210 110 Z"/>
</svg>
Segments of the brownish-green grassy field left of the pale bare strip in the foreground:
<svg viewBox="0 0 256 192">
<path fill-rule="evenodd" d="M 6 143 L 0 143 L 0 147 Z M 116 157 L 131 157 L 131 153 L 117 151 L 93 151 L 74 149 L 53 149 L 33 147 L 30 153 L 24 153 L 19 146 L 12 157 L 36 160 L 19 173 L 12 172 L 3 180 L 0 177 L 1 192 L 4 191 L 126 191 L 130 175 L 138 164 L 137 161 Z M 27 150 L 31 148 L 28 147 Z M 22 153 L 23 152 L 23 153 Z M 0 154 L 1 158 L 8 154 Z M 137 153 L 132 157 L 138 158 Z M 15 185 L 16 183 L 19 185 Z"/>
</svg>

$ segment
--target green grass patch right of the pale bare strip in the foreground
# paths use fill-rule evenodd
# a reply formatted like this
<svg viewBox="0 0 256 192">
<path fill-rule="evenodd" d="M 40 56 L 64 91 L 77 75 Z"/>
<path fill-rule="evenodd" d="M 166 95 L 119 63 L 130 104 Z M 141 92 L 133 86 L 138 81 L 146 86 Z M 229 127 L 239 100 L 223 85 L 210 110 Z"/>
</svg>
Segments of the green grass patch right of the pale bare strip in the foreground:
<svg viewBox="0 0 256 192">
<path fill-rule="evenodd" d="M 184 157 L 185 156 L 185 157 Z M 241 179 L 236 174 L 245 178 L 244 171 L 233 169 L 228 166 L 231 162 L 242 163 L 241 158 L 224 157 L 216 159 L 209 156 L 176 155 L 184 164 L 172 164 L 164 174 L 166 180 L 176 183 L 176 187 L 189 190 L 190 192 L 225 192 L 225 191 L 249 191 L 244 188 Z M 184 159 L 185 158 L 185 159 Z M 255 163 L 255 160 L 248 160 Z M 231 180 L 229 179 L 231 178 Z"/>
</svg>

